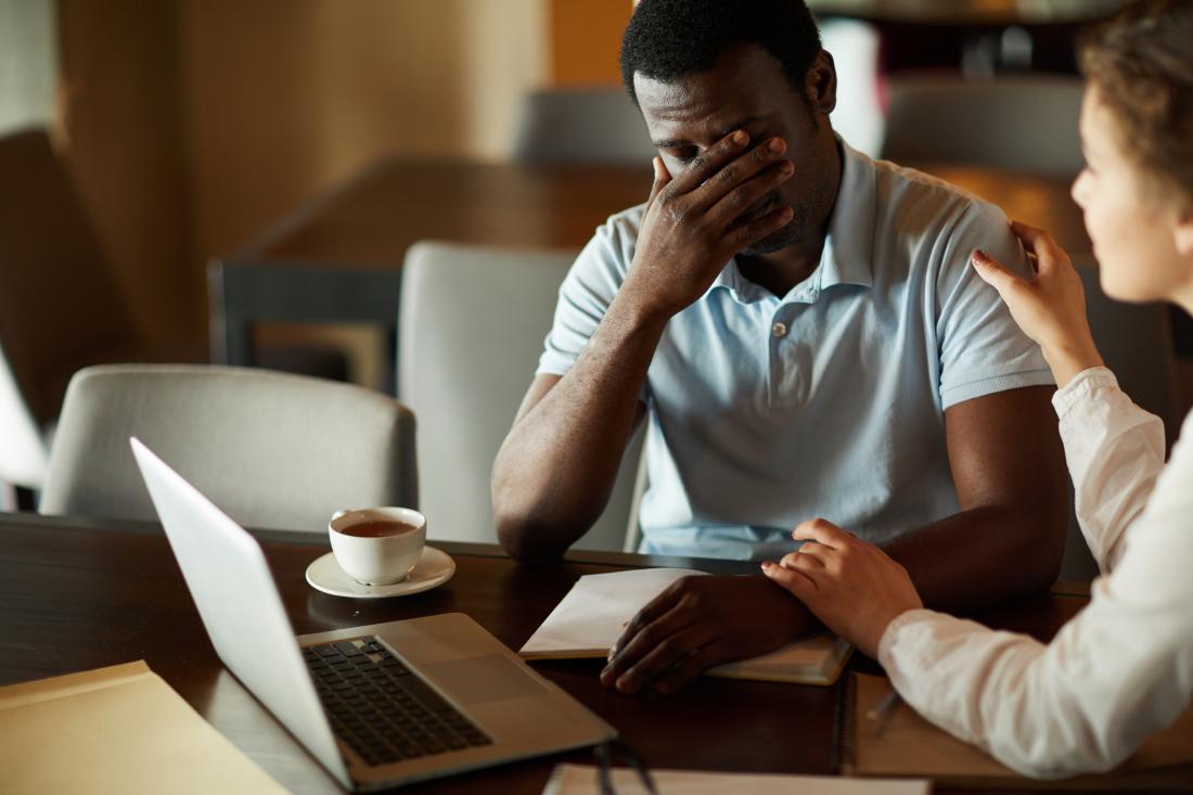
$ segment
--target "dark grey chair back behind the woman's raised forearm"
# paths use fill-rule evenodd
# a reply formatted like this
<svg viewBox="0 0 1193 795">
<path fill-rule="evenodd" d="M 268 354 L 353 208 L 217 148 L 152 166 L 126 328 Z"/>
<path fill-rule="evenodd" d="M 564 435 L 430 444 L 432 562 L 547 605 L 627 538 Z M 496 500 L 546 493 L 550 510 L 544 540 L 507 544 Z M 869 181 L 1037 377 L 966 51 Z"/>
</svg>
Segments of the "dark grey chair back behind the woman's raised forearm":
<svg viewBox="0 0 1193 795">
<path fill-rule="evenodd" d="M 1078 258 L 1077 272 L 1086 288 L 1086 313 L 1106 366 L 1119 386 L 1142 408 L 1164 421 L 1164 437 L 1172 445 L 1180 431 L 1179 380 L 1168 310 L 1157 303 L 1129 304 L 1102 292 L 1098 266 Z M 1088 580 L 1098 575 L 1098 565 L 1070 517 L 1061 579 Z"/>
</svg>

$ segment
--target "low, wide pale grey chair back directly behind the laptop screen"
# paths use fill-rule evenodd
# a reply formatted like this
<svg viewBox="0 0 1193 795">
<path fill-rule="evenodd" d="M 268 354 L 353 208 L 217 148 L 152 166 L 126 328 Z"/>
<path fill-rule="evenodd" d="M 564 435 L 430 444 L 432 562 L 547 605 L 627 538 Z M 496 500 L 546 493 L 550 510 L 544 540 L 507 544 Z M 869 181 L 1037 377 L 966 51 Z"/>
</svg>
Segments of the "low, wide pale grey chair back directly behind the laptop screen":
<svg viewBox="0 0 1193 795">
<path fill-rule="evenodd" d="M 129 437 L 239 523 L 326 532 L 339 509 L 416 507 L 414 415 L 351 384 L 210 365 L 101 365 L 70 381 L 42 513 L 154 519 Z"/>
</svg>

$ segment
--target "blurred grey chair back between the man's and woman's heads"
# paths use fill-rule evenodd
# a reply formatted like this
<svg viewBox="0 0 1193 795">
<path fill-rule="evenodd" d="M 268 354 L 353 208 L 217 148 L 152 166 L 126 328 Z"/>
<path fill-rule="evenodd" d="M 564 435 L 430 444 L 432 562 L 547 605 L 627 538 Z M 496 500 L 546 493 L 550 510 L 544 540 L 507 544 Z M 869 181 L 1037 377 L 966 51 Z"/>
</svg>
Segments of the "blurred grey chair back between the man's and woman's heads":
<svg viewBox="0 0 1193 795">
<path fill-rule="evenodd" d="M 1037 174 L 1082 168 L 1078 78 L 900 75 L 889 91 L 883 158 Z"/>
</svg>

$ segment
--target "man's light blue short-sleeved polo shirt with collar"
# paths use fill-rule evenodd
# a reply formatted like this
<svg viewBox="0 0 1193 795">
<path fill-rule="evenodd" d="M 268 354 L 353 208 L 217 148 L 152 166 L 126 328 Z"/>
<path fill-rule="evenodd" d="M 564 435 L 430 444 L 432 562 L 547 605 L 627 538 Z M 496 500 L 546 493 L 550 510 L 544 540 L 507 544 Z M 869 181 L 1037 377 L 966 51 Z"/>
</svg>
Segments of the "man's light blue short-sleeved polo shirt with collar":
<svg viewBox="0 0 1193 795">
<path fill-rule="evenodd" d="M 1050 384 L 1039 352 L 973 272 L 1020 272 L 996 207 L 842 143 L 820 265 L 779 297 L 729 261 L 667 325 L 642 398 L 641 551 L 775 559 L 824 517 L 882 543 L 958 511 L 944 409 Z M 560 289 L 539 374 L 563 375 L 633 259 L 643 207 L 596 229 Z"/>
</svg>

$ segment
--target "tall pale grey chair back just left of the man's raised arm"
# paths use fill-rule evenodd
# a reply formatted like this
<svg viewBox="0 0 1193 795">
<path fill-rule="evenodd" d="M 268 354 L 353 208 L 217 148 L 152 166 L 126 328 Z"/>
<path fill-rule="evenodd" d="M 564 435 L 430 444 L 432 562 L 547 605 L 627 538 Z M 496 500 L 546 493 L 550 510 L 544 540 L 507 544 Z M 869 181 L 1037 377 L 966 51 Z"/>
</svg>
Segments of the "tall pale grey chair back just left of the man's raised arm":
<svg viewBox="0 0 1193 795">
<path fill-rule="evenodd" d="M 407 253 L 398 395 L 419 417 L 429 537 L 496 541 L 493 461 L 534 376 L 575 254 L 435 242 Z M 636 438 L 605 513 L 577 547 L 625 548 L 639 449 Z"/>
</svg>

